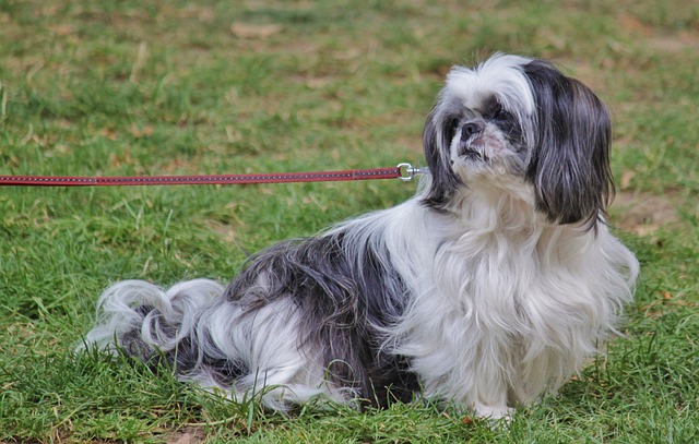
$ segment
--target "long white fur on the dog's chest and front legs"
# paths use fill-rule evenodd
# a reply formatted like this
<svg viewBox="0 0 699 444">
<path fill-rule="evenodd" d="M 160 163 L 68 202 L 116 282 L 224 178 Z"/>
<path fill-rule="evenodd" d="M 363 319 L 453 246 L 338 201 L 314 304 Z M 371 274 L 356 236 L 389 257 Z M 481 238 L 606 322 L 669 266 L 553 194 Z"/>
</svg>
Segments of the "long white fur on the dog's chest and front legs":
<svg viewBox="0 0 699 444">
<path fill-rule="evenodd" d="M 351 221 L 351 232 L 381 230 L 414 291 L 390 346 L 414 358 L 424 395 L 501 417 L 509 391 L 536 400 L 595 353 L 631 299 L 638 263 L 605 226 L 550 225 L 506 195 L 462 203 L 467 219 L 412 200 Z"/>
</svg>

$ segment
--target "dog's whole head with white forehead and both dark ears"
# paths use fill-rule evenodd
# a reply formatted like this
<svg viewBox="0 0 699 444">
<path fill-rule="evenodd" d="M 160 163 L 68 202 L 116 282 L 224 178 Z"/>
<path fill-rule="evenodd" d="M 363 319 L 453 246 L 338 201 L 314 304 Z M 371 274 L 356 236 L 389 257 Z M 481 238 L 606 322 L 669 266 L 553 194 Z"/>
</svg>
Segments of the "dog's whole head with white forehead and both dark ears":
<svg viewBox="0 0 699 444">
<path fill-rule="evenodd" d="M 433 182 L 424 202 L 449 211 L 484 180 L 513 183 L 532 190 L 549 221 L 592 223 L 613 191 L 609 142 L 600 99 L 547 62 L 497 55 L 457 67 L 425 125 Z"/>
</svg>

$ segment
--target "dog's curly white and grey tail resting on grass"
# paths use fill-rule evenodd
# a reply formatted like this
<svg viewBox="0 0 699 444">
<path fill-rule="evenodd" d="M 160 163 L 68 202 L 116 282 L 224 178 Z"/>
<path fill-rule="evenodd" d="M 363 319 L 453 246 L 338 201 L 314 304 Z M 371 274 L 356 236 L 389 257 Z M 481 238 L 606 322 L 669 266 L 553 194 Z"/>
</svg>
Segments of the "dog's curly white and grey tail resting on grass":
<svg viewBox="0 0 699 444">
<path fill-rule="evenodd" d="M 79 349 L 123 350 L 146 362 L 156 355 L 170 363 L 181 362 L 185 356 L 196 361 L 197 321 L 202 309 L 223 292 L 218 283 L 209 279 L 183 281 L 168 290 L 143 280 L 117 283 L 99 298 L 97 322 Z"/>
</svg>

